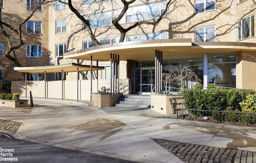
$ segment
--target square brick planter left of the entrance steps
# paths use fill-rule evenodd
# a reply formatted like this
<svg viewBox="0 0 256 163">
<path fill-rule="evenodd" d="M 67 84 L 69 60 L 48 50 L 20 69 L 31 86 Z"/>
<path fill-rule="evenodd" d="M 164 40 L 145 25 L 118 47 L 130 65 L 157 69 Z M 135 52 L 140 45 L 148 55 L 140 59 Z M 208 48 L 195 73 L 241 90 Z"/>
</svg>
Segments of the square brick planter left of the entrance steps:
<svg viewBox="0 0 256 163">
<path fill-rule="evenodd" d="M 116 95 L 116 100 L 122 93 Z M 92 106 L 97 106 L 99 108 L 112 107 L 115 100 L 112 93 L 92 93 Z"/>
</svg>

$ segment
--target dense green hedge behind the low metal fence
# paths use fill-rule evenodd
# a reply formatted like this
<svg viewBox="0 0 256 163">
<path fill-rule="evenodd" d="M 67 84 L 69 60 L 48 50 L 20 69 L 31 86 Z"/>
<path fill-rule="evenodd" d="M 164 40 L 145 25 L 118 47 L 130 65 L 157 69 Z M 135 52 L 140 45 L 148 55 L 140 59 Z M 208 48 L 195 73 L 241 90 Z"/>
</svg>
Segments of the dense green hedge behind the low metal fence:
<svg viewBox="0 0 256 163">
<path fill-rule="evenodd" d="M 246 100 L 249 94 L 255 94 L 249 89 L 216 89 L 214 84 L 209 84 L 206 89 L 201 84 L 196 84 L 192 89 L 182 90 L 184 105 L 187 109 L 196 110 L 232 110 L 242 111 L 240 102 Z"/>
</svg>

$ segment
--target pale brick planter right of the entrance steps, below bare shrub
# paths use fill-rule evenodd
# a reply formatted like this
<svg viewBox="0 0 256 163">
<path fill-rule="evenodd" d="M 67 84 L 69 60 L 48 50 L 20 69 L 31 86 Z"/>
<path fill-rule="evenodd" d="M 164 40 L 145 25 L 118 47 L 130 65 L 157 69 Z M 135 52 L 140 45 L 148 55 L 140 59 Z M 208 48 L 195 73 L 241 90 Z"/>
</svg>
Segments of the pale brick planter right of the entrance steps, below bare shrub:
<svg viewBox="0 0 256 163">
<path fill-rule="evenodd" d="M 180 106 L 176 103 L 177 98 L 183 98 L 181 95 L 151 94 L 151 109 L 162 114 L 172 115 L 177 113 Z M 178 100 L 182 103 L 182 100 Z"/>
</svg>

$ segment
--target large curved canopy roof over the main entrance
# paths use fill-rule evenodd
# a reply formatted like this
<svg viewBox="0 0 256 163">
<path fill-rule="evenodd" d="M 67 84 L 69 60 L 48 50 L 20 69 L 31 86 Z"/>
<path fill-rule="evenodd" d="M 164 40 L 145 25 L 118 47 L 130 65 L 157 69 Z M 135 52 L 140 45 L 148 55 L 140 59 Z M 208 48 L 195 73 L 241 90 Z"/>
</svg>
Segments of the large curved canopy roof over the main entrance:
<svg viewBox="0 0 256 163">
<path fill-rule="evenodd" d="M 110 53 L 120 60 L 145 60 L 155 58 L 155 50 L 163 52 L 163 59 L 172 57 L 196 57 L 203 53 L 229 53 L 236 51 L 256 51 L 256 43 L 243 42 L 192 42 L 192 39 L 158 39 L 128 41 L 99 45 L 64 53 L 64 58 L 94 61 L 110 61 Z"/>
</svg>

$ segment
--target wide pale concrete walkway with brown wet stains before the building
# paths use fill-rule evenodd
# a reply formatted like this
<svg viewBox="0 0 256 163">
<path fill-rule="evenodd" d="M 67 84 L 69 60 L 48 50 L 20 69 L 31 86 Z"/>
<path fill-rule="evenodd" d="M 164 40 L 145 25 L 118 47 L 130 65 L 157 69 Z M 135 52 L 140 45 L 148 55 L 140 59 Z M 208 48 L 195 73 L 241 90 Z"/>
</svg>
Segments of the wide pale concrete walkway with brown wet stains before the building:
<svg viewBox="0 0 256 163">
<path fill-rule="evenodd" d="M 0 108 L 0 119 L 17 122 L 17 131 L 0 132 L 18 139 L 142 163 L 183 162 L 154 139 L 256 151 L 254 127 L 178 120 L 150 109 L 34 99 L 34 108 Z"/>
</svg>

